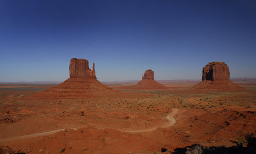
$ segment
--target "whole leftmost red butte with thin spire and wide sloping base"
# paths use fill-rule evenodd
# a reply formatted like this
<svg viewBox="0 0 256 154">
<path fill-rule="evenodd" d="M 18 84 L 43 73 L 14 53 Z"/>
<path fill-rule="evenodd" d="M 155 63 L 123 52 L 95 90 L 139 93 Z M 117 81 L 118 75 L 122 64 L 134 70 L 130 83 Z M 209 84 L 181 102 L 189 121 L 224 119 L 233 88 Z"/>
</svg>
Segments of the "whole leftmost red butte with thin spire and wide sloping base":
<svg viewBox="0 0 256 154">
<path fill-rule="evenodd" d="M 70 78 L 60 85 L 46 90 L 41 95 L 45 94 L 52 97 L 90 97 L 115 93 L 115 90 L 102 85 L 97 80 L 95 64 L 93 63 L 93 69 L 90 69 L 88 60 L 71 59 L 69 75 Z"/>
</svg>

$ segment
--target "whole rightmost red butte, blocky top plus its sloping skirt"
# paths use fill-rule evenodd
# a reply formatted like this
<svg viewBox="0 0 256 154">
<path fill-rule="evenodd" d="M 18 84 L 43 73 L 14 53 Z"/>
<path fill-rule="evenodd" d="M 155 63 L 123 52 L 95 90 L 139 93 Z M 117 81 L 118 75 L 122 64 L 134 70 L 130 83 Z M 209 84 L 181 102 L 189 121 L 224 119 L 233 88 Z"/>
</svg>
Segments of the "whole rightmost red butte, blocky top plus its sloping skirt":
<svg viewBox="0 0 256 154">
<path fill-rule="evenodd" d="M 229 69 L 225 62 L 209 62 L 203 67 L 202 81 L 193 88 L 207 91 L 239 91 L 244 88 L 229 80 Z"/>
</svg>

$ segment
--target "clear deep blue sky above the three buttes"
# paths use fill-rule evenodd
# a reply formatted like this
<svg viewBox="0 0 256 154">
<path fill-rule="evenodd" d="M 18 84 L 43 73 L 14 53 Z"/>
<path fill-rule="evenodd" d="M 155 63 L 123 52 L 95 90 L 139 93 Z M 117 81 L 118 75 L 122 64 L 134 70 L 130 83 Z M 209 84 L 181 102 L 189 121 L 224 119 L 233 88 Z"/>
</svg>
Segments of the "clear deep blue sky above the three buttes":
<svg viewBox="0 0 256 154">
<path fill-rule="evenodd" d="M 100 81 L 201 79 L 224 61 L 256 77 L 255 0 L 1 0 L 0 81 L 63 81 L 73 57 Z"/>
</svg>

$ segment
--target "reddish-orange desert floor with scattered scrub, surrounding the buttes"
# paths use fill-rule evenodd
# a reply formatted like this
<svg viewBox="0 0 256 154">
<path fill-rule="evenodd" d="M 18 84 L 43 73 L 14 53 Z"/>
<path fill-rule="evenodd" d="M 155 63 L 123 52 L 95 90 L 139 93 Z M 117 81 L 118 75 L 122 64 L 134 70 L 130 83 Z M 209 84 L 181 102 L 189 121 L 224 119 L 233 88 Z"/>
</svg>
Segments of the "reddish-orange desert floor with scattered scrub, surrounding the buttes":
<svg viewBox="0 0 256 154">
<path fill-rule="evenodd" d="M 192 144 L 236 145 L 256 134 L 256 82 L 241 92 L 123 89 L 105 97 L 29 95 L 54 85 L 0 84 L 0 153 L 157 153 Z M 246 145 L 245 145 L 246 146 Z"/>
</svg>

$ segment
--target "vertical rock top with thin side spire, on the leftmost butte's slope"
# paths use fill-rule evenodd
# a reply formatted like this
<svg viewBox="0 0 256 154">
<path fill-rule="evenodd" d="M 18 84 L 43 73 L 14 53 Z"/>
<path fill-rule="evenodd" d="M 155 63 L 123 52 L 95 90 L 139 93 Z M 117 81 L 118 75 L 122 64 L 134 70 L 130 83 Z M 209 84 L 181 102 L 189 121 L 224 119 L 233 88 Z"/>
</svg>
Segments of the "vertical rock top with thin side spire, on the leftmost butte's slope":
<svg viewBox="0 0 256 154">
<path fill-rule="evenodd" d="M 89 68 L 89 62 L 85 59 L 73 58 L 69 65 L 70 78 L 97 79 L 95 75 L 95 64 L 93 62 L 93 70 Z"/>
</svg>

